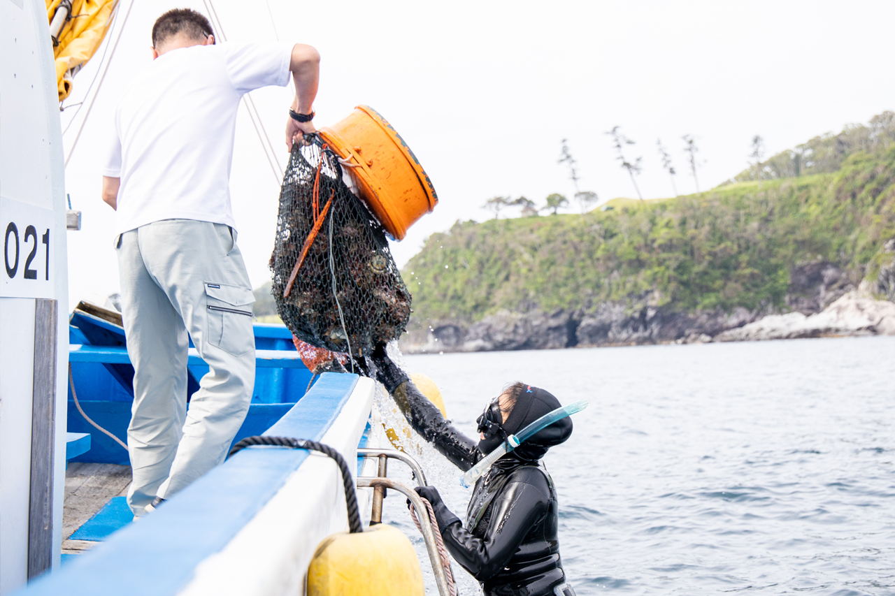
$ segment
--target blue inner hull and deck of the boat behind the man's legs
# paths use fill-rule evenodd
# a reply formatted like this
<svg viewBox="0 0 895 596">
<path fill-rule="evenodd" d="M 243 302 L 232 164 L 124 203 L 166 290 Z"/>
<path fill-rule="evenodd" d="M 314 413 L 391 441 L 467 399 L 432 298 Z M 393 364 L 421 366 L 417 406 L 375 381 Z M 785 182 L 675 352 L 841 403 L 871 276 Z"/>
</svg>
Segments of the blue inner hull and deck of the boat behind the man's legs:
<svg viewBox="0 0 895 596">
<path fill-rule="evenodd" d="M 255 324 L 253 333 L 255 386 L 249 413 L 234 441 L 268 430 L 307 393 L 314 380 L 285 326 Z M 87 302 L 79 303 L 72 311 L 63 561 L 81 555 L 98 541 L 106 541 L 133 519 L 124 499 L 132 480 L 127 452 L 120 441 L 99 433 L 86 420 L 89 416 L 117 438 L 126 439 L 131 420 L 133 367 L 125 342 L 119 312 Z M 187 396 L 198 390 L 199 379 L 209 370 L 195 348 L 189 352 Z M 75 387 L 79 404 L 74 403 Z"/>
</svg>

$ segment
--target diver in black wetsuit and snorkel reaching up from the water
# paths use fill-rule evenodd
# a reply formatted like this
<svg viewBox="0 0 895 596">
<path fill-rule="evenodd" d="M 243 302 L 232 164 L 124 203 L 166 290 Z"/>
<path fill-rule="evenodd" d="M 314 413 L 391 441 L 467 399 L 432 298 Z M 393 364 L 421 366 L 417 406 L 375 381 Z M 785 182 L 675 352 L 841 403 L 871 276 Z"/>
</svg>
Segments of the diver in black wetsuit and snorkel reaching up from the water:
<svg viewBox="0 0 895 596">
<path fill-rule="evenodd" d="M 515 383 L 485 407 L 478 419 L 481 440 L 456 430 L 429 399 L 388 359 L 373 356 L 377 379 L 395 398 L 407 421 L 464 472 L 544 414 L 560 407 L 538 387 Z M 482 583 L 485 596 L 575 596 L 559 558 L 557 492 L 541 457 L 572 434 L 562 418 L 500 457 L 475 483 L 466 523 L 447 509 L 433 486 L 416 491 L 429 499 L 450 554 Z"/>
</svg>

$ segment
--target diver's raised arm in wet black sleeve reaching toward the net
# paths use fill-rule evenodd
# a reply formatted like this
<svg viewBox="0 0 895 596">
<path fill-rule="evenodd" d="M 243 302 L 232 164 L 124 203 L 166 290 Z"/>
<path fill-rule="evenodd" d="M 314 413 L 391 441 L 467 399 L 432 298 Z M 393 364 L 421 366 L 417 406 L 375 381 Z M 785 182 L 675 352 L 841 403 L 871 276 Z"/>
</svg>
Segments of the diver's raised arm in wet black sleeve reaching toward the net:
<svg viewBox="0 0 895 596">
<path fill-rule="evenodd" d="M 439 409 L 432 404 L 419 389 L 413 385 L 404 370 L 392 362 L 385 351 L 385 345 L 379 345 L 373 353 L 376 364 L 376 379 L 386 386 L 388 393 L 395 398 L 395 403 L 413 430 L 429 441 L 435 449 L 464 472 L 473 467 L 482 457 L 473 439 L 456 430 L 450 421 L 445 420 Z"/>
</svg>

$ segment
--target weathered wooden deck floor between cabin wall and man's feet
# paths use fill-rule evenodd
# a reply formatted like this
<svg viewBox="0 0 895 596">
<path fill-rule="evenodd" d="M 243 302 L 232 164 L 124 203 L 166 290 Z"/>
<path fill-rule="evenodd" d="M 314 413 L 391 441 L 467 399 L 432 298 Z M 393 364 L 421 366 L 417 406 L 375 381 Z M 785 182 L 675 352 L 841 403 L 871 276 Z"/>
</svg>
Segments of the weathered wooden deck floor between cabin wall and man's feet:
<svg viewBox="0 0 895 596">
<path fill-rule="evenodd" d="M 96 515 L 112 498 L 127 495 L 131 466 L 118 464 L 68 464 L 65 471 L 62 553 L 80 555 L 96 542 L 69 540 L 81 525 Z"/>
</svg>

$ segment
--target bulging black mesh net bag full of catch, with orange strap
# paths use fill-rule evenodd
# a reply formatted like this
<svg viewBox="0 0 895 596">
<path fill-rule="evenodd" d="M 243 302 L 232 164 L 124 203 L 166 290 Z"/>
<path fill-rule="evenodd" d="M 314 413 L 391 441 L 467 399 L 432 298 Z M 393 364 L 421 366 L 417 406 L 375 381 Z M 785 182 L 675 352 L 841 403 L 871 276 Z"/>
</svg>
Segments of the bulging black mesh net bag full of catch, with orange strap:
<svg viewBox="0 0 895 596">
<path fill-rule="evenodd" d="M 280 191 L 271 292 L 299 340 L 367 356 L 405 330 L 411 295 L 337 155 L 317 135 L 305 138 L 309 145 L 293 146 Z"/>
</svg>

